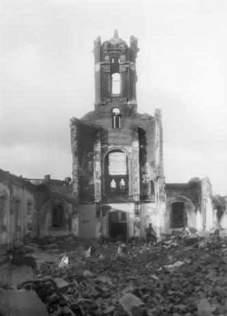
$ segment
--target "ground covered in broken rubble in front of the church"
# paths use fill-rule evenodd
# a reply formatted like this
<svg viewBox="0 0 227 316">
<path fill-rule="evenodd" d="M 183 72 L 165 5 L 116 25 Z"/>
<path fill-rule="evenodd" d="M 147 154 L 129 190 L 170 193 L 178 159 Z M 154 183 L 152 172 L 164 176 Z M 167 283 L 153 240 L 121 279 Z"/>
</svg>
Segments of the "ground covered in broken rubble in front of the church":
<svg viewBox="0 0 227 316">
<path fill-rule="evenodd" d="M 227 315 L 224 230 L 175 232 L 148 247 L 140 240 L 121 254 L 119 242 L 93 243 L 90 258 L 85 257 L 88 241 L 72 235 L 29 242 L 25 250 L 35 244 L 38 251 L 26 258 L 45 252 L 53 260 L 41 260 L 34 279 L 16 289 L 35 291 L 49 315 Z M 0 295 L 16 289 L 2 284 Z"/>
</svg>

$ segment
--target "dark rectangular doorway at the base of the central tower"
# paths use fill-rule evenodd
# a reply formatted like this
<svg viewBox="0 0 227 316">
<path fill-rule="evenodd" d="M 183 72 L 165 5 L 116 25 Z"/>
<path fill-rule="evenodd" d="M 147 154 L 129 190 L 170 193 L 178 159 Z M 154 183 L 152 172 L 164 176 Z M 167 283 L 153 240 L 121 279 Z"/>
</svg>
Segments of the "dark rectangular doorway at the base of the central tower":
<svg viewBox="0 0 227 316">
<path fill-rule="evenodd" d="M 127 238 L 127 221 L 125 212 L 109 213 L 109 237 L 116 239 L 118 235 L 123 236 L 123 240 Z"/>
</svg>

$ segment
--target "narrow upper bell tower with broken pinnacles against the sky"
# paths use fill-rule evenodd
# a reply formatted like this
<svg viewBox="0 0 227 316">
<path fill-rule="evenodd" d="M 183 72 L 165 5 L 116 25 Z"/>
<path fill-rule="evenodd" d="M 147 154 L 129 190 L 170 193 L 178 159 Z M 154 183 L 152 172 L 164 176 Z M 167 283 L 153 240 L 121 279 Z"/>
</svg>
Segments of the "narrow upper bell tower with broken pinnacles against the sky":
<svg viewBox="0 0 227 316">
<path fill-rule="evenodd" d="M 136 58 L 139 48 L 137 38 L 131 36 L 130 47 L 114 31 L 114 38 L 101 43 L 94 40 L 95 105 L 136 100 Z"/>
</svg>

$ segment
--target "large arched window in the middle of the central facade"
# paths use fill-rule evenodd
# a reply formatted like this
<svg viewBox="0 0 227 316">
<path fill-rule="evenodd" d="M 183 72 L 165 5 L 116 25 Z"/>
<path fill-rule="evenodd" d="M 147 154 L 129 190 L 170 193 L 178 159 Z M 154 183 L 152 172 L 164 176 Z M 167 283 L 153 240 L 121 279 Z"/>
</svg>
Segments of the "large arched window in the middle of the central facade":
<svg viewBox="0 0 227 316">
<path fill-rule="evenodd" d="M 109 197 L 129 194 L 128 158 L 123 151 L 111 151 L 105 158 L 105 188 Z"/>
</svg>

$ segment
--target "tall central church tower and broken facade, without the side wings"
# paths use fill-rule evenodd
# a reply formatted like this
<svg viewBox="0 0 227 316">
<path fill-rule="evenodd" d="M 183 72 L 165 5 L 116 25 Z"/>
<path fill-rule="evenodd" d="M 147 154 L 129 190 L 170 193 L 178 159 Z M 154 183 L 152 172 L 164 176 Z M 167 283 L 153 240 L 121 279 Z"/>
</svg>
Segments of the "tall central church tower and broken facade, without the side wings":
<svg viewBox="0 0 227 316">
<path fill-rule="evenodd" d="M 138 51 L 135 36 L 131 37 L 129 47 L 119 38 L 118 32 L 103 44 L 99 36 L 94 41 L 94 110 L 81 120 L 72 118 L 70 121 L 73 191 L 79 217 L 86 217 L 79 219 L 81 234 L 94 222 L 94 203 L 101 209 L 106 203 L 130 204 L 126 214 L 131 218 L 133 213 L 133 228 L 128 229 L 128 235 L 135 231 L 144 235 L 144 226 L 141 228 L 140 225 L 144 221 L 141 218 L 144 211 L 140 213 L 138 210 L 146 209 L 145 204 L 149 203 L 146 215 L 150 213 L 150 207 L 152 210 L 158 208 L 152 220 L 156 223 L 157 233 L 160 232 L 159 210 L 165 209 L 161 110 L 156 110 L 154 117 L 137 113 L 135 62 Z M 111 76 L 114 73 L 120 74 L 118 95 L 112 91 Z M 111 151 L 126 154 L 126 193 L 122 195 L 108 195 L 107 155 Z M 142 203 L 144 206 L 140 205 Z M 101 216 L 101 221 L 94 223 L 94 236 L 98 231 L 108 233 L 105 228 L 108 223 L 103 221 Z"/>
</svg>

